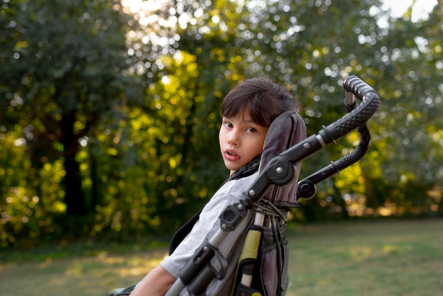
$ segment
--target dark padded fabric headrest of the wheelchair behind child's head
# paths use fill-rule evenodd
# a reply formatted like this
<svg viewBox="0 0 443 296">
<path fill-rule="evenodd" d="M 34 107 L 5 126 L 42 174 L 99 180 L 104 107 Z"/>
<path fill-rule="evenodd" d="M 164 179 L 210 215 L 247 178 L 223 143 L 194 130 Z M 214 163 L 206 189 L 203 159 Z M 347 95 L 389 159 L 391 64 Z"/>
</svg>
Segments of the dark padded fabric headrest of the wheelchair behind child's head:
<svg viewBox="0 0 443 296">
<path fill-rule="evenodd" d="M 272 121 L 267 130 L 263 146 L 260 168 L 265 168 L 269 161 L 298 142 L 306 138 L 306 125 L 301 116 L 295 111 L 286 111 Z M 297 204 L 297 183 L 301 163 L 297 164 L 295 180 L 286 186 L 271 186 L 265 199 L 277 207 L 299 207 Z"/>
</svg>

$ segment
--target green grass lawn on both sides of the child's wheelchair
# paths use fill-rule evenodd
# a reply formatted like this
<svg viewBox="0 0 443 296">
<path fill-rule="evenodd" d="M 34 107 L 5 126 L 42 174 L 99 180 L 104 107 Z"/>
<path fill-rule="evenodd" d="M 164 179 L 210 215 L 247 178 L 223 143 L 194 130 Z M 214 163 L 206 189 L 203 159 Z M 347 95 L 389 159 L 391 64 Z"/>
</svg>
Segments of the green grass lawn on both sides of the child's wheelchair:
<svg viewBox="0 0 443 296">
<path fill-rule="evenodd" d="M 443 295 L 441 219 L 294 227 L 289 246 L 287 296 Z M 105 295 L 137 283 L 167 252 L 143 246 L 81 249 L 11 254 L 0 263 L 0 294 Z"/>
</svg>

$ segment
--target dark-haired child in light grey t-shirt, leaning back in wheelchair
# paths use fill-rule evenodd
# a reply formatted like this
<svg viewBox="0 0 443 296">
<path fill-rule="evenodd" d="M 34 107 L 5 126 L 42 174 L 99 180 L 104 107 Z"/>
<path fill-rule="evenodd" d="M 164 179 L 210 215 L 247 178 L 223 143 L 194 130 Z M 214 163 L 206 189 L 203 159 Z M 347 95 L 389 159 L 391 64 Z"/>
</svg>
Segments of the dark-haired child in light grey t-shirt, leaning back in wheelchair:
<svg viewBox="0 0 443 296">
<path fill-rule="evenodd" d="M 294 97 L 268 79 L 248 79 L 226 95 L 221 106 L 219 145 L 224 165 L 230 171 L 229 178 L 202 209 L 190 233 L 170 256 L 146 275 L 131 293 L 132 296 L 164 295 L 180 277 L 180 269 L 190 261 L 202 241 L 219 230 L 220 213 L 227 206 L 238 203 L 257 177 L 267 130 L 272 120 L 288 110 L 299 110 Z M 215 279 L 209 284 L 206 295 L 229 295 L 231 292 L 236 269 L 234 251 L 241 247 L 244 239 L 238 238 L 246 233 L 254 215 L 253 211 L 249 211 L 219 247 L 230 262 L 229 268 L 223 280 Z"/>
</svg>

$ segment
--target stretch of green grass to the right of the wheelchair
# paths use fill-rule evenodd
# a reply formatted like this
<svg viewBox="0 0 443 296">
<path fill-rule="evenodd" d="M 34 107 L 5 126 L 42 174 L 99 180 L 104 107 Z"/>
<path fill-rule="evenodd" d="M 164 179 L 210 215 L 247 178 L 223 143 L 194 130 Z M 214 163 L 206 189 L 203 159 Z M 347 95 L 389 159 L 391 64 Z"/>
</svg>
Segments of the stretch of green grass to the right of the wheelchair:
<svg viewBox="0 0 443 296">
<path fill-rule="evenodd" d="M 443 295 L 443 220 L 294 229 L 288 296 Z"/>
</svg>

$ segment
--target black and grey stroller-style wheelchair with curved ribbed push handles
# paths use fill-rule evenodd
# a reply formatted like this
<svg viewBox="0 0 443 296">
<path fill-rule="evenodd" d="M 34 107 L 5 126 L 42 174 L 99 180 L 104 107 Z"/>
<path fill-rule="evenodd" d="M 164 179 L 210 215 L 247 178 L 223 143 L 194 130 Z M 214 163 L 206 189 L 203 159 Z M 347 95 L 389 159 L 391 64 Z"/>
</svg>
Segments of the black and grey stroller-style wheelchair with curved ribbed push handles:
<svg viewBox="0 0 443 296">
<path fill-rule="evenodd" d="M 224 209 L 219 216 L 219 231 L 207 237 L 197 248 L 190 261 L 180 270 L 180 278 L 173 283 L 166 296 L 205 295 L 212 280 L 224 280 L 226 276 L 231 277 L 231 295 L 284 295 L 289 283 L 287 212 L 299 207 L 299 198 L 313 198 L 317 183 L 355 164 L 369 149 L 371 137 L 366 124 L 379 108 L 379 94 L 357 76 L 345 79 L 343 89 L 346 115 L 323 126 L 314 135 L 306 137 L 306 126 L 294 111 L 282 113 L 272 121 L 260 161 L 252 168 L 258 171 L 257 177 L 248 186 L 240 203 Z M 358 104 L 356 98 L 361 103 Z M 352 130 L 359 132 L 360 141 L 350 154 L 296 182 L 301 161 L 326 145 L 335 144 L 336 140 Z M 250 211 L 255 212 L 253 219 L 248 215 Z M 170 254 L 190 232 L 198 220 L 198 214 L 174 234 Z M 246 217 L 251 219 L 248 231 L 238 237 L 243 247 L 234 250 L 234 256 L 228 261 L 219 252 L 219 246 Z M 233 264 L 235 272 L 228 274 L 227 270 Z M 130 295 L 134 287 L 115 290 L 108 296 Z"/>
</svg>

